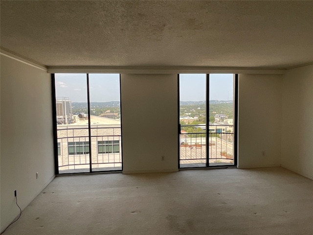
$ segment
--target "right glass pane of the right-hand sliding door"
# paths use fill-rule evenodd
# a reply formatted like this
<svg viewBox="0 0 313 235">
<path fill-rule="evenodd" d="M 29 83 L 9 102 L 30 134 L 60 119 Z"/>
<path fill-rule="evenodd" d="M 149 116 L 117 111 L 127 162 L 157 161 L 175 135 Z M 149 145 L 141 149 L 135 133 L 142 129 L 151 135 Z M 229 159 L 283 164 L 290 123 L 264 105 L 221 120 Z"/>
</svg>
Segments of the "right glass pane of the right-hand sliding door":
<svg viewBox="0 0 313 235">
<path fill-rule="evenodd" d="M 210 74 L 209 164 L 234 164 L 234 74 Z"/>
</svg>

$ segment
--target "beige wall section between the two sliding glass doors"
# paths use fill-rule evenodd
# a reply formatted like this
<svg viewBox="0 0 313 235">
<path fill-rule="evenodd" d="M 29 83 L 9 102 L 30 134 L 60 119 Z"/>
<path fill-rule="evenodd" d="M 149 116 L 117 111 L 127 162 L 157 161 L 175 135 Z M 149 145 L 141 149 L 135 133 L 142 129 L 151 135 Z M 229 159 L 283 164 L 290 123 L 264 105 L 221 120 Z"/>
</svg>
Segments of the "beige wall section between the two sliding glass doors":
<svg viewBox="0 0 313 235">
<path fill-rule="evenodd" d="M 177 99 L 177 74 L 121 74 L 124 173 L 178 170 Z"/>
</svg>

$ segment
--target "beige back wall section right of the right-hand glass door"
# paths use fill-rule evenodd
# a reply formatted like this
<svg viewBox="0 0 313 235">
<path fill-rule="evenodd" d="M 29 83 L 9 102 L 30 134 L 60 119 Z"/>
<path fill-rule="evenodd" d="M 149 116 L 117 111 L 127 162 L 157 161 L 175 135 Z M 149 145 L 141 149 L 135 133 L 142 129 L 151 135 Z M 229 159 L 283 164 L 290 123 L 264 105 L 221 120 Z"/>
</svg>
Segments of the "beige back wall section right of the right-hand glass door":
<svg viewBox="0 0 313 235">
<path fill-rule="evenodd" d="M 281 86 L 282 75 L 239 75 L 239 168 L 280 164 Z"/>
</svg>

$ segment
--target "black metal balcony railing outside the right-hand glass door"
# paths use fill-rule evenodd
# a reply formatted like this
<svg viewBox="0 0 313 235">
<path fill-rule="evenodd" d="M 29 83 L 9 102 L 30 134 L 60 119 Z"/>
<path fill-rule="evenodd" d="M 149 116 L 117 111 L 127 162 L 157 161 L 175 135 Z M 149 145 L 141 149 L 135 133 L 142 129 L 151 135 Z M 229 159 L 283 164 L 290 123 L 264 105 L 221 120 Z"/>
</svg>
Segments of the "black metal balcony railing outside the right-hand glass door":
<svg viewBox="0 0 313 235">
<path fill-rule="evenodd" d="M 234 126 L 181 125 L 179 161 L 181 167 L 206 166 L 208 151 L 209 165 L 234 164 L 233 139 Z"/>
</svg>

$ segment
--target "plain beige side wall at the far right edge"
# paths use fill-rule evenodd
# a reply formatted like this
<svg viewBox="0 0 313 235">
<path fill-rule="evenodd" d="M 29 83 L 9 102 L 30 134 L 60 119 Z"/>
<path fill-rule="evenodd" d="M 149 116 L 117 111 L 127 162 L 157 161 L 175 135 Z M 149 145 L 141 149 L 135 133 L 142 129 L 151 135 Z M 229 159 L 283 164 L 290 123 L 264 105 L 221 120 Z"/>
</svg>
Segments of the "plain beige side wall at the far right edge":
<svg viewBox="0 0 313 235">
<path fill-rule="evenodd" d="M 282 107 L 281 164 L 313 179 L 313 65 L 287 71 Z"/>
</svg>

